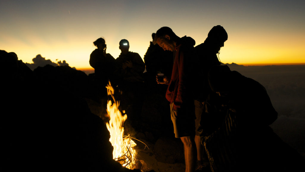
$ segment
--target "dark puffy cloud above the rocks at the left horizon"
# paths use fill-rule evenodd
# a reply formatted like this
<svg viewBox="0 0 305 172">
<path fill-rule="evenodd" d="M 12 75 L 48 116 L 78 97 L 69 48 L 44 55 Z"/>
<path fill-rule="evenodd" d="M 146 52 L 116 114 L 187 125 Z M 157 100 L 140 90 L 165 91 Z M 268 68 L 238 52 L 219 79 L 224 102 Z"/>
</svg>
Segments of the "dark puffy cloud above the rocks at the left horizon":
<svg viewBox="0 0 305 172">
<path fill-rule="evenodd" d="M 57 60 L 57 59 L 56 59 Z M 57 63 L 52 62 L 50 59 L 46 60 L 45 57 L 42 57 L 41 54 L 38 54 L 35 58 L 32 59 L 33 63 L 26 63 L 26 65 L 31 69 L 34 70 L 38 66 L 44 67 L 45 65 L 52 65 L 52 66 L 69 66 L 65 60 L 63 62 L 59 61 Z"/>
</svg>

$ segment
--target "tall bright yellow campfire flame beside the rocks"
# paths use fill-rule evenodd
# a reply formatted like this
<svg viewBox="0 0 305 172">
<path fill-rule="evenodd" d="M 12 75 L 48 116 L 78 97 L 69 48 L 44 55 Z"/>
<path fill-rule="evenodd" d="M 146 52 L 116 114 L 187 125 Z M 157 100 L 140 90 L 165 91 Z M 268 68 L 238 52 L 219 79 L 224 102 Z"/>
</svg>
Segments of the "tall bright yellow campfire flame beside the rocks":
<svg viewBox="0 0 305 172">
<path fill-rule="evenodd" d="M 113 102 L 108 100 L 107 113 L 110 117 L 109 122 L 106 122 L 107 129 L 110 132 L 110 143 L 113 146 L 113 159 L 118 161 L 122 166 L 131 169 L 135 165 L 136 146 L 131 137 L 124 136 L 123 124 L 127 119 L 127 114 L 122 116 L 119 105 L 120 101 L 114 99 L 114 89 L 110 82 L 106 86 L 108 95 L 111 95 Z"/>
</svg>

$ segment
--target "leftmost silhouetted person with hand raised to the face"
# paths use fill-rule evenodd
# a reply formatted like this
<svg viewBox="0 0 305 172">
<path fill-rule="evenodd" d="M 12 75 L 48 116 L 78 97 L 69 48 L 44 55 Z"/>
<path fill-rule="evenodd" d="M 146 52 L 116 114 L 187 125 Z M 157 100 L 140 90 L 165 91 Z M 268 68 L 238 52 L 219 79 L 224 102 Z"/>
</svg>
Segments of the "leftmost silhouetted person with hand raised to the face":
<svg viewBox="0 0 305 172">
<path fill-rule="evenodd" d="M 105 39 L 99 38 L 93 44 L 97 48 L 90 54 L 89 63 L 94 68 L 97 81 L 101 83 L 101 87 L 105 87 L 108 84 L 108 80 L 112 81 L 113 79 L 115 59 L 111 54 L 106 53 Z"/>
</svg>

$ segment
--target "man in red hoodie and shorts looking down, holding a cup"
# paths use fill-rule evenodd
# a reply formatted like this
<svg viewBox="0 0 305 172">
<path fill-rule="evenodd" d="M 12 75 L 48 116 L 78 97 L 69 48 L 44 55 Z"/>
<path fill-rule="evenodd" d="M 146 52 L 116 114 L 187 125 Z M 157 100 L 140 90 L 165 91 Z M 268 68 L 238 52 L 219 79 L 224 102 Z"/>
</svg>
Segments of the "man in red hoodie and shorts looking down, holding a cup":
<svg viewBox="0 0 305 172">
<path fill-rule="evenodd" d="M 194 88 L 196 84 L 195 65 L 197 62 L 195 40 L 191 37 L 178 37 L 171 28 L 162 27 L 156 32 L 153 44 L 163 50 L 174 52 L 174 65 L 169 80 L 157 78 L 158 84 L 168 84 L 166 99 L 170 102 L 171 119 L 176 138 L 184 145 L 185 171 L 193 172 L 196 162 Z"/>
</svg>

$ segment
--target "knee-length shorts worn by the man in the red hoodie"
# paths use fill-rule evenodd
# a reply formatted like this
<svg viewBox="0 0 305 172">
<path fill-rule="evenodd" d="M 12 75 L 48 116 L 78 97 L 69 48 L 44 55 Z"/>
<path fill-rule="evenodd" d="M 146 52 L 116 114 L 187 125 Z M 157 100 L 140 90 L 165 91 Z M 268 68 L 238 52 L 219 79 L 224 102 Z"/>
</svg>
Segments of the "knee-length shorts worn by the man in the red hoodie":
<svg viewBox="0 0 305 172">
<path fill-rule="evenodd" d="M 176 138 L 195 136 L 195 107 L 194 103 L 181 107 L 175 111 L 174 103 L 170 103 L 170 117 L 174 126 Z"/>
</svg>

